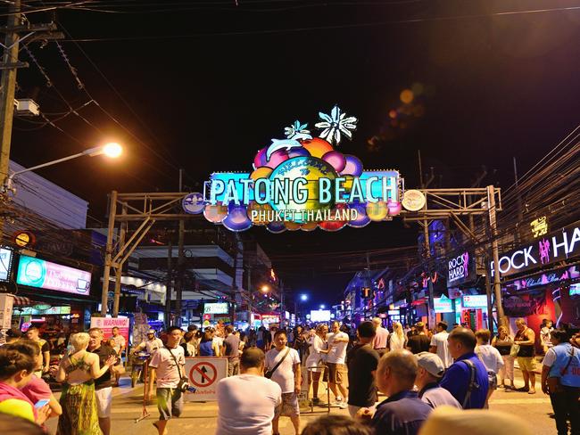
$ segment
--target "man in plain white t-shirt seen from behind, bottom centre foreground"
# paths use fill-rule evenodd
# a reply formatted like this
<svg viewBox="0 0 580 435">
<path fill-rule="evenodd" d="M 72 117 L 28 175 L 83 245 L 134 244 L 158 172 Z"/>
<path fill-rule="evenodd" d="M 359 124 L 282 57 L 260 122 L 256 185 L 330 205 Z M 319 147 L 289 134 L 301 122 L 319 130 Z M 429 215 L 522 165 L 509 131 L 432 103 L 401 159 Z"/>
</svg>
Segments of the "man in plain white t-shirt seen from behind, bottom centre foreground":
<svg viewBox="0 0 580 435">
<path fill-rule="evenodd" d="M 245 349 L 240 357 L 241 374 L 218 382 L 216 435 L 271 435 L 282 389 L 264 377 L 265 358 L 261 349 Z"/>
</svg>

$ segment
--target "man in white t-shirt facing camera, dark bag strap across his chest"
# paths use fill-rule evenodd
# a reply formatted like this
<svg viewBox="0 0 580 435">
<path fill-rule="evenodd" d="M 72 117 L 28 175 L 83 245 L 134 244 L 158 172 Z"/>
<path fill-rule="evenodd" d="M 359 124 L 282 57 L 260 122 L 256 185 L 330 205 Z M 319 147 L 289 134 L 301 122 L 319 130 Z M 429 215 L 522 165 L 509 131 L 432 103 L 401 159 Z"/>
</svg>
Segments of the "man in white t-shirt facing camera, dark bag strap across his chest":
<svg viewBox="0 0 580 435">
<path fill-rule="evenodd" d="M 296 349 L 286 346 L 288 338 L 286 331 L 278 330 L 274 335 L 274 348 L 266 354 L 266 370 L 271 373 L 271 380 L 278 383 L 282 390 L 282 404 L 276 408 L 272 431 L 278 435 L 278 420 L 280 415 L 290 417 L 296 435 L 300 433 L 300 407 L 298 394 L 300 393 L 300 356 Z M 279 365 L 278 365 L 279 363 Z M 274 370 L 276 368 L 276 370 Z M 273 372 L 273 373 L 272 373 Z"/>
</svg>

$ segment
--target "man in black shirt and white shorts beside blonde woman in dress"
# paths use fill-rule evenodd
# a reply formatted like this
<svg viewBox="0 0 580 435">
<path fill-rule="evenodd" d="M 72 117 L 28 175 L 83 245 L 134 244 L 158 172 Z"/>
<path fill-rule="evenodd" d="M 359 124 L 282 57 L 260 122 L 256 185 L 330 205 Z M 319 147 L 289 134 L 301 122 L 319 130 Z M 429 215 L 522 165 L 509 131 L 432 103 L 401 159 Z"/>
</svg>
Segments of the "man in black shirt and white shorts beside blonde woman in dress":
<svg viewBox="0 0 580 435">
<path fill-rule="evenodd" d="M 104 344 L 103 330 L 91 328 L 88 330 L 88 351 L 99 357 L 99 368 L 103 368 L 109 358 L 117 358 L 117 352 L 111 346 Z M 112 365 L 113 367 L 114 365 Z M 111 433 L 111 406 L 112 406 L 112 373 L 106 371 L 103 375 L 95 379 L 95 399 L 97 415 L 99 417 L 99 427 L 103 435 Z"/>
</svg>

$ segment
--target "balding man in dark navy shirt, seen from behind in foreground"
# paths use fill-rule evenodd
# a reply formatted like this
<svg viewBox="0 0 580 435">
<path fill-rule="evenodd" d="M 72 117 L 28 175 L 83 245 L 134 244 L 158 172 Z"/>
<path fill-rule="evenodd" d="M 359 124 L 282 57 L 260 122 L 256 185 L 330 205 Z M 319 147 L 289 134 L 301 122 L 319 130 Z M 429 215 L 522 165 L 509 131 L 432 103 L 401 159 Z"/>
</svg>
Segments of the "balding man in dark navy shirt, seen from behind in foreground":
<svg viewBox="0 0 580 435">
<path fill-rule="evenodd" d="M 433 408 L 423 402 L 413 389 L 417 376 L 417 358 L 409 350 L 393 350 L 378 363 L 378 390 L 388 398 L 377 406 L 370 421 L 377 435 L 416 435 Z M 369 410 L 359 411 L 369 418 Z"/>
</svg>

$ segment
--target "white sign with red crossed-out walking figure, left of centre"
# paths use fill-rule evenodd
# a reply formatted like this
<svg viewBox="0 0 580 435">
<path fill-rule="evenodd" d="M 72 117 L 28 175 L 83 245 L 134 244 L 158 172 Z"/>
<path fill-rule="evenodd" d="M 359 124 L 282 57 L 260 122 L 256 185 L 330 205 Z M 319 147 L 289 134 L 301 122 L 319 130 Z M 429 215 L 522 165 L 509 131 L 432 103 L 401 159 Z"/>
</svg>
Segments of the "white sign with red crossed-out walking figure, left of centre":
<svg viewBox="0 0 580 435">
<path fill-rule="evenodd" d="M 186 358 L 186 373 L 191 385 L 197 389 L 195 393 L 186 394 L 187 401 L 217 400 L 216 385 L 228 375 L 228 358 Z"/>
</svg>

